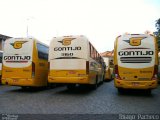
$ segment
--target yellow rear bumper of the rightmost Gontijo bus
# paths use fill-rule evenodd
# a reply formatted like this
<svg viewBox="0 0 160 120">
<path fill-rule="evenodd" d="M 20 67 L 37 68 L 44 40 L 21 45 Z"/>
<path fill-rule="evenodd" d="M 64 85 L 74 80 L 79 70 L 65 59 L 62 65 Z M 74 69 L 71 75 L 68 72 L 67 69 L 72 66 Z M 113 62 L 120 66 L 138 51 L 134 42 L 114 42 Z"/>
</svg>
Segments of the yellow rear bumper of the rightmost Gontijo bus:
<svg viewBox="0 0 160 120">
<path fill-rule="evenodd" d="M 117 88 L 128 89 L 154 89 L 157 87 L 157 80 L 150 81 L 126 81 L 114 79 L 114 85 Z"/>
</svg>

